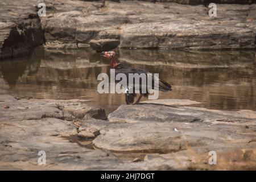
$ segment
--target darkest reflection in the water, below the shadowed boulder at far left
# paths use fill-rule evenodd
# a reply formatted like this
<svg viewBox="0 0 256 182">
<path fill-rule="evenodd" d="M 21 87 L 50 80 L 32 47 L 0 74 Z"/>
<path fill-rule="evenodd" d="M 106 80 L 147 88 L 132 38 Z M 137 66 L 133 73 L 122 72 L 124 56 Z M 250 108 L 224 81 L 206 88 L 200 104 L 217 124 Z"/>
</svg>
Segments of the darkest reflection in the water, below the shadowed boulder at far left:
<svg viewBox="0 0 256 182">
<path fill-rule="evenodd" d="M 40 56 L 32 53 L 29 56 L 19 59 L 1 61 L 0 75 L 7 82 L 10 88 L 16 85 L 16 81 L 23 75 L 31 76 L 38 72 L 40 66 Z"/>
</svg>

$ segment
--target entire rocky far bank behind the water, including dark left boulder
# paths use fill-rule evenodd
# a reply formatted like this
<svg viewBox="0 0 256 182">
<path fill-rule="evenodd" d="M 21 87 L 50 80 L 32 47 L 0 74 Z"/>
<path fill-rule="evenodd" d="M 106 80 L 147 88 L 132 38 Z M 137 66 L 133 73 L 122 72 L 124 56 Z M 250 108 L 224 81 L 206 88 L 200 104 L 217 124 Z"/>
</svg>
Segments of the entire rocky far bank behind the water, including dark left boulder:
<svg viewBox="0 0 256 182">
<path fill-rule="evenodd" d="M 216 17 L 198 5 L 207 3 L 201 0 L 44 2 L 46 17 L 37 15 L 36 0 L 0 2 L 0 59 L 26 54 L 43 43 L 48 49 L 255 49 L 254 1 L 217 4 Z"/>
</svg>

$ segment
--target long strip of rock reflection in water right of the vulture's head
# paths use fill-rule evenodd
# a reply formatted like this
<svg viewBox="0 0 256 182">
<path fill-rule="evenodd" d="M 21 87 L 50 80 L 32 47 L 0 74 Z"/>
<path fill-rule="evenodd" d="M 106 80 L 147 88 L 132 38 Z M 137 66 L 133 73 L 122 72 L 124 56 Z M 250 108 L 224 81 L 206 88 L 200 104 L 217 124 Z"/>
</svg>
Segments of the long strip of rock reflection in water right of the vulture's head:
<svg viewBox="0 0 256 182">
<path fill-rule="evenodd" d="M 182 68 L 248 67 L 254 51 L 174 51 L 120 49 L 121 61 L 131 64 L 168 65 Z"/>
</svg>

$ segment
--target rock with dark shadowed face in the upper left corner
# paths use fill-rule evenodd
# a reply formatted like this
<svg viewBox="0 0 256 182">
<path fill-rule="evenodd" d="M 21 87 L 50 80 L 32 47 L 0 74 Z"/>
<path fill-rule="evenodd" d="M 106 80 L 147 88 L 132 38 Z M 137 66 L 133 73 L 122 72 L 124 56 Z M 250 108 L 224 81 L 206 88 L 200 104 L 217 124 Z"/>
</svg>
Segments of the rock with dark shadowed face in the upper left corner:
<svg viewBox="0 0 256 182">
<path fill-rule="evenodd" d="M 36 1 L 0 2 L 0 59 L 26 55 L 43 44 L 43 30 L 33 3 Z"/>
</svg>

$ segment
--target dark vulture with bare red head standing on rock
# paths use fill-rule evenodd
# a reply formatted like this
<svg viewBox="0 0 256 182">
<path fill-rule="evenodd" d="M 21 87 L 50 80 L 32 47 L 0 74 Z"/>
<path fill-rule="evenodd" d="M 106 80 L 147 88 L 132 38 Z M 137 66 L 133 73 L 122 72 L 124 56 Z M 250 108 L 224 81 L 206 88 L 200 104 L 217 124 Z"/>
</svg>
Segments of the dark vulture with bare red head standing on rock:
<svg viewBox="0 0 256 182">
<path fill-rule="evenodd" d="M 127 78 L 127 85 L 129 85 L 129 73 L 138 73 L 139 75 L 141 73 L 144 73 L 145 75 L 148 75 L 148 72 L 146 69 L 142 69 L 142 68 L 130 68 L 127 67 L 125 64 L 123 63 L 117 63 L 117 57 L 115 56 L 115 52 L 114 51 L 104 51 L 100 53 L 101 56 L 110 59 L 110 67 L 115 69 L 115 76 L 118 73 L 123 73 L 126 75 Z M 152 75 L 152 73 L 151 73 Z M 129 88 L 125 88 L 125 101 L 126 104 L 139 104 L 139 101 L 141 100 L 141 98 L 147 97 L 148 94 L 150 94 L 148 91 L 148 87 L 147 84 L 148 82 L 151 82 L 152 84 L 152 89 L 154 89 L 154 80 L 157 79 L 158 80 L 158 89 L 162 92 L 168 92 L 171 91 L 171 85 L 168 84 L 166 81 L 160 80 L 158 77 L 155 77 L 152 75 L 152 77 L 146 77 L 146 85 L 142 83 L 142 81 L 139 81 L 139 87 L 135 86 L 135 81 L 133 81 L 133 85 L 129 85 Z M 115 82 L 119 82 L 118 80 L 115 80 Z M 138 86 L 138 85 L 137 85 Z M 142 88 L 143 86 L 146 86 L 146 93 L 142 92 Z M 138 97 L 138 100 L 136 102 L 134 102 L 134 98 L 137 96 L 137 94 L 135 93 L 135 88 L 139 88 L 138 92 L 140 94 L 140 96 Z M 131 90 L 133 90 L 133 92 L 131 92 Z"/>
</svg>

